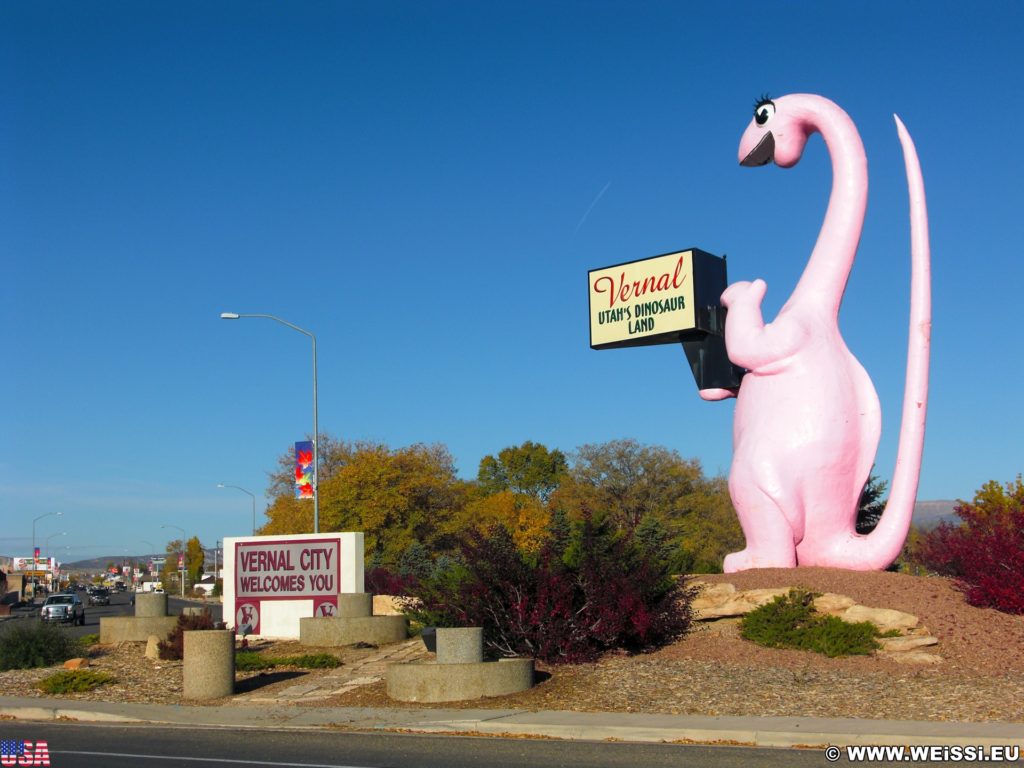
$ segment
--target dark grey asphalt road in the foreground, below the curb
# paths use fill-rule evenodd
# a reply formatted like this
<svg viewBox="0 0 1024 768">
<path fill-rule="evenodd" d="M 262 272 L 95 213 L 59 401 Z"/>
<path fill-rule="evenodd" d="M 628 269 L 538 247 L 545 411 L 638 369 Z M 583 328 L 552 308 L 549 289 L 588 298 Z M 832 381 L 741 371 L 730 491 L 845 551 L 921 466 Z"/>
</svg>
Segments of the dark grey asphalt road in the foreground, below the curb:
<svg viewBox="0 0 1024 768">
<path fill-rule="evenodd" d="M 820 750 L 424 736 L 334 731 L 228 731 L 168 726 L 0 722 L 0 737 L 47 742 L 60 768 L 802 768 Z M 882 765 L 882 763 L 874 763 Z"/>
</svg>

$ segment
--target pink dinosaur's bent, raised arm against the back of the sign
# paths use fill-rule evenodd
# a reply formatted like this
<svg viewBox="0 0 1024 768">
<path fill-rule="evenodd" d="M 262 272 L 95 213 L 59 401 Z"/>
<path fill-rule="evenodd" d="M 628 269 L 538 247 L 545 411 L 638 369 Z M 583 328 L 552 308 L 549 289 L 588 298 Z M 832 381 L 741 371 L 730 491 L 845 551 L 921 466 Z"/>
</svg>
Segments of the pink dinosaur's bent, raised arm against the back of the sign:
<svg viewBox="0 0 1024 768">
<path fill-rule="evenodd" d="M 784 359 L 807 339 L 799 323 L 780 313 L 775 323 L 765 325 L 761 313 L 768 285 L 763 280 L 733 283 L 722 294 L 729 308 L 725 321 L 725 347 L 729 359 L 740 368 L 757 372 L 761 367 Z"/>
</svg>

